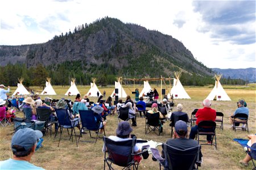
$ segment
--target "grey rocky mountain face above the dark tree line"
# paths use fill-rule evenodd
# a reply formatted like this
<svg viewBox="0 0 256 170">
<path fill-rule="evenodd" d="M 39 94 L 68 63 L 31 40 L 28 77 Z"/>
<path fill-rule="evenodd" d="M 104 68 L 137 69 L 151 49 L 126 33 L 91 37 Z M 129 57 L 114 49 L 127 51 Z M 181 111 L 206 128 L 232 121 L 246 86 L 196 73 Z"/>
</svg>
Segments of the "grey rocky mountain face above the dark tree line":
<svg viewBox="0 0 256 170">
<path fill-rule="evenodd" d="M 157 66 L 166 74 L 182 69 L 191 74 L 212 75 L 180 41 L 113 18 L 82 25 L 73 33 L 55 36 L 43 44 L 0 46 L 0 61 L 1 66 L 19 62 L 26 63 L 27 67 L 37 63 L 49 66 L 82 61 L 87 67 L 105 64 L 120 70 L 134 65 L 137 68 Z"/>
</svg>

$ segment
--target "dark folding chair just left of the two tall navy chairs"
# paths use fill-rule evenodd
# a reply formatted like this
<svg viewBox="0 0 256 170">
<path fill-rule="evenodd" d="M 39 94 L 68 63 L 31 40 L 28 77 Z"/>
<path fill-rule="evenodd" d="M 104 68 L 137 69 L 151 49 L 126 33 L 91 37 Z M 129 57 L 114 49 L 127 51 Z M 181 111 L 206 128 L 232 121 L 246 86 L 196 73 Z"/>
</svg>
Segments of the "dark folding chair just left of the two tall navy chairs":
<svg viewBox="0 0 256 170">
<path fill-rule="evenodd" d="M 52 120 L 52 111 L 49 108 L 36 108 L 36 114 L 38 115 L 39 121 L 46 121 L 44 124 L 44 129 L 50 131 L 50 135 L 52 135 L 52 125 L 57 124 L 58 121 Z"/>
</svg>

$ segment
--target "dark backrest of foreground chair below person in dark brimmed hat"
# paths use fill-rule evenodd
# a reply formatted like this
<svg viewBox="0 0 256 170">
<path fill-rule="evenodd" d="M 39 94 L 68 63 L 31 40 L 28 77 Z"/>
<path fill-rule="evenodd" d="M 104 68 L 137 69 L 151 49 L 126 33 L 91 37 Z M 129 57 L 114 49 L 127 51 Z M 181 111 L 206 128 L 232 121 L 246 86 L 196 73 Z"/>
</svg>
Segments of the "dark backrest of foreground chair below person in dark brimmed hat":
<svg viewBox="0 0 256 170">
<path fill-rule="evenodd" d="M 133 156 L 131 154 L 134 153 L 134 146 L 136 144 L 136 139 L 130 139 L 127 141 L 112 141 L 107 137 L 103 137 L 104 144 L 106 149 L 108 150 L 109 159 L 113 160 L 113 163 L 126 167 L 133 160 Z"/>
</svg>

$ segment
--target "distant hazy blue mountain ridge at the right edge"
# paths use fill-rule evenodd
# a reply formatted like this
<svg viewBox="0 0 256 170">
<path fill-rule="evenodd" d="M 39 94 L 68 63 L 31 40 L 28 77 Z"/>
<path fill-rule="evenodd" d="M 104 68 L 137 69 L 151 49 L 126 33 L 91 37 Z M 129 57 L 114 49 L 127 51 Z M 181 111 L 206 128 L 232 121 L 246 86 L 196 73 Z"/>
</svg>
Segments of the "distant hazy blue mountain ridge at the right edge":
<svg viewBox="0 0 256 170">
<path fill-rule="evenodd" d="M 249 81 L 250 83 L 256 82 L 256 68 L 247 68 L 247 69 L 218 69 L 212 68 L 212 70 L 221 73 L 224 78 L 228 79 L 242 79 Z"/>
</svg>

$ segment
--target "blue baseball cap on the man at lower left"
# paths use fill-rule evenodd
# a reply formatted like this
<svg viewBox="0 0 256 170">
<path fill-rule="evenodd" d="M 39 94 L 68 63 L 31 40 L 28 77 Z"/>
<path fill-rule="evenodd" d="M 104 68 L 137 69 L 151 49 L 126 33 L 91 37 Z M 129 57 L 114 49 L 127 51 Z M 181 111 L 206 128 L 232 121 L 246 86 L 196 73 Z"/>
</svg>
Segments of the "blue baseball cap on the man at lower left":
<svg viewBox="0 0 256 170">
<path fill-rule="evenodd" d="M 13 138 L 11 138 L 11 148 L 13 151 L 16 151 L 13 146 L 18 145 L 28 150 L 33 147 L 36 141 L 41 137 L 43 137 L 43 133 L 40 130 L 33 130 L 31 128 L 19 129 L 13 135 Z"/>
</svg>

